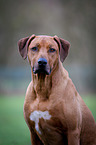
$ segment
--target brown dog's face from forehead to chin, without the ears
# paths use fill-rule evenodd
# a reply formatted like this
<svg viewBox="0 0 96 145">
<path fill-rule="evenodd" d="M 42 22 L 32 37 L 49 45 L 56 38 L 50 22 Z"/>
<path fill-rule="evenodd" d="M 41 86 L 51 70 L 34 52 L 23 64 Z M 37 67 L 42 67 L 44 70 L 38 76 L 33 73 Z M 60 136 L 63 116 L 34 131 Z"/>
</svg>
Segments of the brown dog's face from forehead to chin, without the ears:
<svg viewBox="0 0 96 145">
<path fill-rule="evenodd" d="M 59 59 L 59 48 L 52 37 L 37 36 L 28 47 L 28 59 L 36 73 L 49 75 Z"/>
</svg>

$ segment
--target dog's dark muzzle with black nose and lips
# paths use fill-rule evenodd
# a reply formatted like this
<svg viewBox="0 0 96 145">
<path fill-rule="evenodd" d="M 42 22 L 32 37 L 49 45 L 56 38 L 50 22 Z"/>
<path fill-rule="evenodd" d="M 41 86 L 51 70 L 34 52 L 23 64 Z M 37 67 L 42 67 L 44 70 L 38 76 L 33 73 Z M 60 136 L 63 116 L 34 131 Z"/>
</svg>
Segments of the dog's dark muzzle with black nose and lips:
<svg viewBox="0 0 96 145">
<path fill-rule="evenodd" d="M 51 69 L 48 65 L 48 62 L 45 58 L 39 58 L 37 66 L 33 67 L 34 74 L 46 74 L 49 75 L 51 73 Z"/>
</svg>

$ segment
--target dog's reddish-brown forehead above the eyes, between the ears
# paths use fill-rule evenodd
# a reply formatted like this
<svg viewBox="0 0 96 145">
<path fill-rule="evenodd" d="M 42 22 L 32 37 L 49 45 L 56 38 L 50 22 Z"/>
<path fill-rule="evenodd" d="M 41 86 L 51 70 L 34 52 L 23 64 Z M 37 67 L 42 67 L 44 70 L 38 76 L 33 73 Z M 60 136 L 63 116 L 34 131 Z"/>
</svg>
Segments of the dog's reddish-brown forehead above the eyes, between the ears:
<svg viewBox="0 0 96 145">
<path fill-rule="evenodd" d="M 29 44 L 29 47 L 33 46 L 58 48 L 58 44 L 53 37 L 44 35 L 36 36 Z"/>
</svg>

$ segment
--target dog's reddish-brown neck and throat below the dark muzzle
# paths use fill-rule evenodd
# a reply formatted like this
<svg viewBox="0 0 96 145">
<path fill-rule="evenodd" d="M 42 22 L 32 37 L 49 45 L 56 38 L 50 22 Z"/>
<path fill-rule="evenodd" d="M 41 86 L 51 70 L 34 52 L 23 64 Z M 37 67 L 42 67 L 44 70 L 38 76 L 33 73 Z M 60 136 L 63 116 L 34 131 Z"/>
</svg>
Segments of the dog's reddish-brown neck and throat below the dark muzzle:
<svg viewBox="0 0 96 145">
<path fill-rule="evenodd" d="M 58 81 L 61 81 L 59 77 L 61 76 L 62 64 L 58 64 L 55 71 L 51 72 L 50 75 L 34 74 L 32 71 L 32 81 L 33 89 L 35 91 L 36 97 L 41 100 L 46 100 L 49 98 L 52 88 L 54 88 Z M 61 77 L 60 77 L 61 78 Z M 54 82 L 54 83 L 53 83 Z"/>
</svg>

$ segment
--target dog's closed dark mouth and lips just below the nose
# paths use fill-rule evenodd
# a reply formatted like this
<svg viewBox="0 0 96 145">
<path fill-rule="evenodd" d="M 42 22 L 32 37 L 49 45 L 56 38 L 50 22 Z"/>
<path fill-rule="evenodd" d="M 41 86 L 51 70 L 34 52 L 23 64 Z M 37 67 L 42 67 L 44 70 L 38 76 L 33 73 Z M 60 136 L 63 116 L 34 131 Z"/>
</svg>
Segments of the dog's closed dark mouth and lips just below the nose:
<svg viewBox="0 0 96 145">
<path fill-rule="evenodd" d="M 51 69 L 46 68 L 46 67 L 33 67 L 33 73 L 34 74 L 44 74 L 44 75 L 50 75 Z"/>
</svg>

